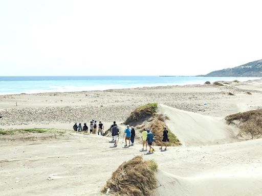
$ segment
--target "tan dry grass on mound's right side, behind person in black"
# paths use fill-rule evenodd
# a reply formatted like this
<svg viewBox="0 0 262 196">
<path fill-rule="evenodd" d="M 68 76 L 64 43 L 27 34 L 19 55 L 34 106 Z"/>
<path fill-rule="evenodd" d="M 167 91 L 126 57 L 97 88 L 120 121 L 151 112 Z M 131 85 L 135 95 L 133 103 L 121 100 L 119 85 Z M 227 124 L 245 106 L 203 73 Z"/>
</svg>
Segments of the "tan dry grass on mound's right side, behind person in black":
<svg viewBox="0 0 262 196">
<path fill-rule="evenodd" d="M 161 145 L 162 139 L 163 139 L 163 131 L 165 125 L 165 117 L 163 115 L 155 115 L 154 119 L 149 123 L 149 129 L 155 136 L 155 144 Z M 169 142 L 167 142 L 167 146 L 179 146 L 181 145 L 181 142 L 177 138 L 176 135 L 174 135 L 169 129 L 168 129 L 168 139 Z"/>
</svg>

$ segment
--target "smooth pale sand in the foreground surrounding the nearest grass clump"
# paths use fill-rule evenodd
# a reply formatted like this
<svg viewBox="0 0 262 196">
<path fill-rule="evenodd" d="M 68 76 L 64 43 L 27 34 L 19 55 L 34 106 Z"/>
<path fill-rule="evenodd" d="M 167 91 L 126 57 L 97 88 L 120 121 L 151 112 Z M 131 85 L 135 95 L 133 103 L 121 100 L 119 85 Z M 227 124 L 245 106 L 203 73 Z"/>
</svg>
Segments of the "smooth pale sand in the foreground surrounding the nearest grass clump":
<svg viewBox="0 0 262 196">
<path fill-rule="evenodd" d="M 1 143 L 1 192 L 99 195 L 122 162 L 143 154 L 145 159 L 155 159 L 159 164 L 157 176 L 161 186 L 157 195 L 261 195 L 262 139 L 173 147 L 154 154 L 140 152 L 140 144 L 127 149 L 120 145 L 110 148 L 110 140 L 72 133 L 71 139 L 43 143 Z M 53 180 L 47 180 L 48 177 Z"/>
</svg>

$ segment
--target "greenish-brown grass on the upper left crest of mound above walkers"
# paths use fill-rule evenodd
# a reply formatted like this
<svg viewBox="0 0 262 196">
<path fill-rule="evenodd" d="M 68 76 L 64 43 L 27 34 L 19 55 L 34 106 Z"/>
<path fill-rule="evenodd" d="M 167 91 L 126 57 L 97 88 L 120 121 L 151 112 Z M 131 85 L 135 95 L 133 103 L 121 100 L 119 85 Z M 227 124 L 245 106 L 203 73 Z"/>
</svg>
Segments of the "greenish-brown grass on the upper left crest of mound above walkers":
<svg viewBox="0 0 262 196">
<path fill-rule="evenodd" d="M 129 117 L 125 120 L 125 125 L 137 125 L 139 122 L 150 118 L 154 113 L 157 112 L 158 104 L 151 103 L 146 104 L 137 108 L 135 111 L 131 112 Z"/>
</svg>

